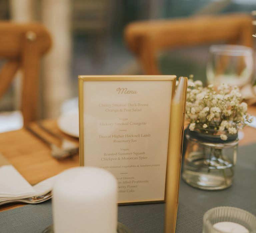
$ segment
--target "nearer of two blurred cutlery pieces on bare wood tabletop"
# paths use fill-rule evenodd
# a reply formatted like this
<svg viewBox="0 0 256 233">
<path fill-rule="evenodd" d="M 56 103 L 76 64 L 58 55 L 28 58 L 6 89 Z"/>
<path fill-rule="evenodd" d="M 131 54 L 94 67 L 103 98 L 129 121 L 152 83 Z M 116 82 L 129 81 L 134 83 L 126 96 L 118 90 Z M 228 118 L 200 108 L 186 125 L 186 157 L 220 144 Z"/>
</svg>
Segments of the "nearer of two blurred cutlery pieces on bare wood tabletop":
<svg viewBox="0 0 256 233">
<path fill-rule="evenodd" d="M 38 134 L 36 131 L 34 131 L 31 127 L 26 126 L 26 129 L 29 132 L 31 132 L 34 136 L 41 139 L 45 144 L 47 144 L 51 148 L 51 155 L 54 158 L 57 158 L 57 159 L 66 158 L 66 157 L 75 155 L 79 151 L 78 146 L 68 147 L 68 148 L 60 148 L 57 145 L 55 145 L 54 143 L 52 143 L 52 142 L 48 141 L 47 139 L 45 139 L 44 137 L 42 137 L 40 134 Z"/>
</svg>

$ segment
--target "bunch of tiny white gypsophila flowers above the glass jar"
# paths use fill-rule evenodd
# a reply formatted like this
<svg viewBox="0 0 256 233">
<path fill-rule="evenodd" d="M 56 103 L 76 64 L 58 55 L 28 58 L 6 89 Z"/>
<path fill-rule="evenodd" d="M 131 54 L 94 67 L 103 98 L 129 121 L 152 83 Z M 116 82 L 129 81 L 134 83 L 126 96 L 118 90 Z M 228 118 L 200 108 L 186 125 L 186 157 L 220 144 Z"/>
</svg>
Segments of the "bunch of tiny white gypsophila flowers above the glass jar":
<svg viewBox="0 0 256 233">
<path fill-rule="evenodd" d="M 192 76 L 191 76 L 192 77 Z M 247 104 L 242 102 L 238 87 L 221 84 L 215 88 L 212 84 L 203 88 L 201 81 L 188 81 L 186 119 L 189 129 L 203 133 L 222 135 L 227 140 L 229 134 L 236 134 L 237 128 L 243 128 L 251 122 L 247 113 Z"/>
</svg>

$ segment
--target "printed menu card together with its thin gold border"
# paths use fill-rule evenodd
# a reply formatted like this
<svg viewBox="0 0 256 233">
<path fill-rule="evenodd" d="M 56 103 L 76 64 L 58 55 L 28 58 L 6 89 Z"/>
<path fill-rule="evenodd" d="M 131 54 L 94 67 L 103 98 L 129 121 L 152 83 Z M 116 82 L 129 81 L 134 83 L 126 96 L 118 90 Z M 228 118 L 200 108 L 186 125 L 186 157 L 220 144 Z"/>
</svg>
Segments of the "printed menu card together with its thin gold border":
<svg viewBox="0 0 256 233">
<path fill-rule="evenodd" d="M 174 75 L 79 76 L 80 165 L 112 172 L 121 204 L 165 200 L 175 83 Z M 181 129 L 175 130 L 179 138 Z M 177 156 L 170 165 L 177 171 L 175 185 Z"/>
</svg>

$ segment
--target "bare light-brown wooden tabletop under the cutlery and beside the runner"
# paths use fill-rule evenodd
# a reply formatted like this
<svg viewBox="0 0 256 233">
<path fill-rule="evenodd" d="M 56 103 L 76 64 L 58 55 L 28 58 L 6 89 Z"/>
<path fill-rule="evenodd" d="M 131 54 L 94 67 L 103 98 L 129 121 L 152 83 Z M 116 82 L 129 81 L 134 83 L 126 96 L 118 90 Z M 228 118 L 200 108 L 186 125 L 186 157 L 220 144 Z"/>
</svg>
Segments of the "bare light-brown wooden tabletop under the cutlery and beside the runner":
<svg viewBox="0 0 256 233">
<path fill-rule="evenodd" d="M 248 113 L 256 116 L 256 107 L 248 108 Z M 56 120 L 44 120 L 43 124 L 52 131 L 62 134 L 64 137 L 78 144 L 77 138 L 68 136 L 58 129 Z M 59 140 L 45 133 L 35 123 L 32 123 L 31 126 L 48 140 L 60 144 Z M 244 128 L 243 132 L 244 138 L 239 142 L 239 145 L 256 142 L 256 128 L 247 126 Z M 79 166 L 78 154 L 72 158 L 56 160 L 51 156 L 50 148 L 25 128 L 0 133 L 0 152 L 32 185 L 56 175 L 67 168 Z M 0 206 L 0 211 L 9 210 L 22 205 L 23 204 L 8 204 Z"/>
</svg>

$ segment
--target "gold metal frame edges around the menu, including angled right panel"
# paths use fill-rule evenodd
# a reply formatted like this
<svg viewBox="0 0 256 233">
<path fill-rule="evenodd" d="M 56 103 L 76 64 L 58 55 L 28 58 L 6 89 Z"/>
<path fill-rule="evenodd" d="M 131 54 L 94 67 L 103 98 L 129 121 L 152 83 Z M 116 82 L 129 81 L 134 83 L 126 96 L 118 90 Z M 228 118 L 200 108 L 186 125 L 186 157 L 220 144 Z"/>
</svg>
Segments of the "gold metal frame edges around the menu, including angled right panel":
<svg viewBox="0 0 256 233">
<path fill-rule="evenodd" d="M 175 223 L 178 206 L 178 190 L 181 168 L 181 149 L 183 140 L 183 124 L 185 114 L 185 100 L 187 78 L 179 79 L 179 86 L 175 93 L 176 76 L 175 75 L 156 75 L 156 76 L 78 76 L 79 79 L 79 155 L 80 166 L 84 166 L 84 82 L 90 81 L 172 81 L 171 90 L 171 108 L 169 119 L 169 139 L 167 149 L 165 194 L 163 200 L 133 202 L 121 202 L 119 204 L 142 204 L 166 202 L 165 229 L 175 231 Z M 169 231 L 170 232 L 170 231 Z"/>
</svg>

